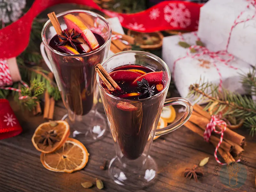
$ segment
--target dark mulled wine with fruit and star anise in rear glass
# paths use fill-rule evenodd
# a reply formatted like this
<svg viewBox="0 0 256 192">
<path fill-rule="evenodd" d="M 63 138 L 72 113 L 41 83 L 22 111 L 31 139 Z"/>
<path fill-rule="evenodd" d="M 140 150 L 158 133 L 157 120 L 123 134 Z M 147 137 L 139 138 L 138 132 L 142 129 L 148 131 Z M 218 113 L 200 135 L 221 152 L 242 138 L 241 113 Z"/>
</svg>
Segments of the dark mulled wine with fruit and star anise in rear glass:
<svg viewBox="0 0 256 192">
<path fill-rule="evenodd" d="M 52 60 L 60 78 L 61 90 L 66 97 L 66 108 L 76 115 L 85 115 L 93 106 L 96 78 L 94 67 L 102 62 L 106 55 L 105 49 L 91 55 L 90 52 L 100 48 L 105 40 L 92 32 L 78 16 L 67 14 L 64 21 L 67 29 L 61 36 L 53 36 L 49 45 L 71 57 L 53 55 Z M 88 53 L 88 56 L 72 57 L 84 53 Z"/>
</svg>

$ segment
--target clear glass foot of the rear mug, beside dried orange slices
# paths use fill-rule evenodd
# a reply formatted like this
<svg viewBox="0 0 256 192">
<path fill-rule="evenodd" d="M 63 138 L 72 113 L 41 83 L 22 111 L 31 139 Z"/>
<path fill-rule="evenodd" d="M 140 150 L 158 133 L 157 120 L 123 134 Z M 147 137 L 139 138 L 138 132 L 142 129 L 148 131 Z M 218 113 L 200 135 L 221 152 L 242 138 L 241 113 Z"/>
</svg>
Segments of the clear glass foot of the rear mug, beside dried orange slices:
<svg viewBox="0 0 256 192">
<path fill-rule="evenodd" d="M 63 116 L 70 126 L 70 137 L 82 143 L 92 143 L 104 136 L 107 124 L 106 118 L 97 110 L 91 110 L 84 116 L 77 116 L 75 121 L 68 118 L 68 114 Z"/>
</svg>

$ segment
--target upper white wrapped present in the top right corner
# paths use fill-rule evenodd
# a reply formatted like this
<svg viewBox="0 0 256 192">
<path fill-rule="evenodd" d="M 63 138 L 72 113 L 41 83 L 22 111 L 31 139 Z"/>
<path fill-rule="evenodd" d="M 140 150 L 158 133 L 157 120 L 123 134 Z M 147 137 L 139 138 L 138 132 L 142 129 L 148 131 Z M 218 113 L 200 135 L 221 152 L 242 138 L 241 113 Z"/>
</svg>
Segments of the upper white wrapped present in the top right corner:
<svg viewBox="0 0 256 192">
<path fill-rule="evenodd" d="M 256 64 L 255 0 L 210 0 L 200 8 L 198 36 L 212 51 L 225 50 Z"/>
</svg>

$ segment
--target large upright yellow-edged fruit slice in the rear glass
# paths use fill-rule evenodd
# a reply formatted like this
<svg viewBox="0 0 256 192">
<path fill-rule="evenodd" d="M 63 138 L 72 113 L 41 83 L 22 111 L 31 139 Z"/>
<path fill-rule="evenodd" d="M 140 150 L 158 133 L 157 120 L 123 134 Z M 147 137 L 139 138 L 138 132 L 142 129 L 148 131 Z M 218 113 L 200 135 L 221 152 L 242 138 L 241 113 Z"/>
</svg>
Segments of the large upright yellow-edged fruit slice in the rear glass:
<svg viewBox="0 0 256 192">
<path fill-rule="evenodd" d="M 81 37 L 88 43 L 88 45 L 95 50 L 100 47 L 96 37 L 92 31 L 84 24 L 83 21 L 78 19 L 75 15 L 67 14 L 64 17 L 64 21 L 68 29 L 74 28 L 76 33 L 81 33 Z"/>
</svg>

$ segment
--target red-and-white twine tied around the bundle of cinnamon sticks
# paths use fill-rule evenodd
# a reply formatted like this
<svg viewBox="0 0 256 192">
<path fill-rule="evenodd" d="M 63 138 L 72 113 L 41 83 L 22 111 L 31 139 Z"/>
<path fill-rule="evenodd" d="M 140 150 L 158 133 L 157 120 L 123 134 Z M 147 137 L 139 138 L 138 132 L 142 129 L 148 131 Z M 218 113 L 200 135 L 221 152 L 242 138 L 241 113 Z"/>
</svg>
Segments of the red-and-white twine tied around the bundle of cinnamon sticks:
<svg viewBox="0 0 256 192">
<path fill-rule="evenodd" d="M 220 134 L 220 142 L 218 143 L 217 147 L 215 148 L 214 157 L 215 157 L 215 160 L 219 164 L 226 165 L 226 163 L 221 163 L 220 160 L 217 157 L 217 151 L 220 147 L 220 144 L 222 143 L 224 132 L 227 129 L 227 123 L 223 120 L 220 120 L 220 118 L 221 118 L 221 115 L 220 116 L 212 115 L 211 121 L 207 124 L 206 129 L 204 131 L 204 140 L 209 142 L 211 134 L 212 134 L 213 131 L 217 134 Z M 220 131 L 217 131 L 216 128 L 215 128 L 216 125 L 219 126 L 220 129 L 221 129 L 221 125 L 224 125 L 224 128 L 221 129 Z M 236 162 L 239 162 L 239 161 L 240 161 L 240 159 L 236 160 Z"/>
</svg>

